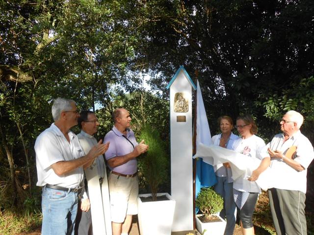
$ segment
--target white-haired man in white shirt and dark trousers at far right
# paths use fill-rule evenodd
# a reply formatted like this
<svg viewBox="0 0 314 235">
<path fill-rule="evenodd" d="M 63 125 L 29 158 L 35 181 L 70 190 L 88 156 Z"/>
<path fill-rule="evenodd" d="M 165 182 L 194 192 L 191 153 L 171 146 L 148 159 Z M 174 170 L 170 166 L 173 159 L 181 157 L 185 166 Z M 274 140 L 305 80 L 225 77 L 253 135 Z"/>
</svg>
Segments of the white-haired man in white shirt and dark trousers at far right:
<svg viewBox="0 0 314 235">
<path fill-rule="evenodd" d="M 299 130 L 303 116 L 288 111 L 280 121 L 281 131 L 268 143 L 270 168 L 275 176 L 268 189 L 277 235 L 306 235 L 305 193 L 307 168 L 314 159 L 313 146 Z"/>
</svg>

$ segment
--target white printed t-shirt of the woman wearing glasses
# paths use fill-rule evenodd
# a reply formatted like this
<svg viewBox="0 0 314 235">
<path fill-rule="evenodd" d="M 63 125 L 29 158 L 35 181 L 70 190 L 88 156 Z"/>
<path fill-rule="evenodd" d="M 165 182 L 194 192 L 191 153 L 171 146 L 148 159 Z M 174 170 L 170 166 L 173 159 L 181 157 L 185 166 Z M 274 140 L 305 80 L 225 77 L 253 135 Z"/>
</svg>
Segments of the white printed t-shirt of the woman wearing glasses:
<svg viewBox="0 0 314 235">
<path fill-rule="evenodd" d="M 233 150 L 246 156 L 256 157 L 262 160 L 269 157 L 265 142 L 262 138 L 255 134 L 247 139 L 238 138 L 233 143 Z M 255 170 L 255 169 L 254 169 Z M 238 178 L 234 181 L 234 188 L 242 192 L 261 193 L 261 188 L 256 182 L 248 181 L 247 179 Z"/>
</svg>

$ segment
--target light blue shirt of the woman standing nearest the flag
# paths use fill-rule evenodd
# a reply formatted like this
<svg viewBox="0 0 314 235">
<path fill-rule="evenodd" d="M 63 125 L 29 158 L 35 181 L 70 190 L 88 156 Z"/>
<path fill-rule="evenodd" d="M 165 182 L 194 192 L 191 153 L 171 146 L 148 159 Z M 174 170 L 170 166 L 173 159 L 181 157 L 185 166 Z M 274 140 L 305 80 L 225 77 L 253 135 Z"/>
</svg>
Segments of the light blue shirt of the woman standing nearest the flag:
<svg viewBox="0 0 314 235">
<path fill-rule="evenodd" d="M 220 138 L 221 138 L 221 134 L 216 134 L 214 136 L 212 136 L 211 140 L 212 140 L 212 144 L 213 145 L 218 145 L 219 146 L 219 143 L 220 143 Z M 233 145 L 233 142 L 238 139 L 239 136 L 235 135 L 234 133 L 231 132 L 231 135 L 230 135 L 230 138 L 229 138 L 229 141 L 227 143 L 227 149 L 232 149 L 232 145 Z M 226 168 L 223 166 L 223 164 L 218 164 L 218 165 L 214 165 L 214 171 L 216 173 L 216 176 L 219 176 L 219 177 L 227 177 L 228 178 L 228 183 L 232 183 L 233 180 L 232 180 L 232 171 L 231 171 L 231 168 Z"/>
</svg>

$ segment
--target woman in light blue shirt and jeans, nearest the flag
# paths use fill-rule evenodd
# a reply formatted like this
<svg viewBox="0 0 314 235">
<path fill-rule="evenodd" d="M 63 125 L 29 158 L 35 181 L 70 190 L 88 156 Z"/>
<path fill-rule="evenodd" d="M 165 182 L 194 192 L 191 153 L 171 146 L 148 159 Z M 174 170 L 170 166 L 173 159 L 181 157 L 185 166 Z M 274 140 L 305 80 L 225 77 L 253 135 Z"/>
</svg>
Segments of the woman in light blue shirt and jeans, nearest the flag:
<svg viewBox="0 0 314 235">
<path fill-rule="evenodd" d="M 212 143 L 220 147 L 232 149 L 233 142 L 239 138 L 232 130 L 234 123 L 229 116 L 221 116 L 218 118 L 218 125 L 221 134 L 212 136 Z M 217 178 L 217 183 L 214 190 L 223 197 L 224 208 L 220 211 L 219 215 L 223 219 L 227 218 L 227 225 L 224 235 L 233 235 L 235 229 L 236 209 L 233 197 L 233 180 L 232 172 L 228 162 L 214 165 L 214 171 Z"/>
</svg>

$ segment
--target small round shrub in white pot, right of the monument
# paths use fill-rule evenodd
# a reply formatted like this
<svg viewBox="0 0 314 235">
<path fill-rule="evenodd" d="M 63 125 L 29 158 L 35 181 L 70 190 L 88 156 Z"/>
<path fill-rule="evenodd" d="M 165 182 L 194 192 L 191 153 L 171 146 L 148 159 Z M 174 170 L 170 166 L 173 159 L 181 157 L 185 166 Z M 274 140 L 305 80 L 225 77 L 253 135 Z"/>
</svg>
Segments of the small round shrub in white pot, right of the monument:
<svg viewBox="0 0 314 235">
<path fill-rule="evenodd" d="M 223 198 L 211 188 L 201 188 L 195 205 L 203 214 L 196 215 L 196 228 L 204 235 L 223 235 L 226 221 L 217 213 L 223 209 Z"/>
</svg>

